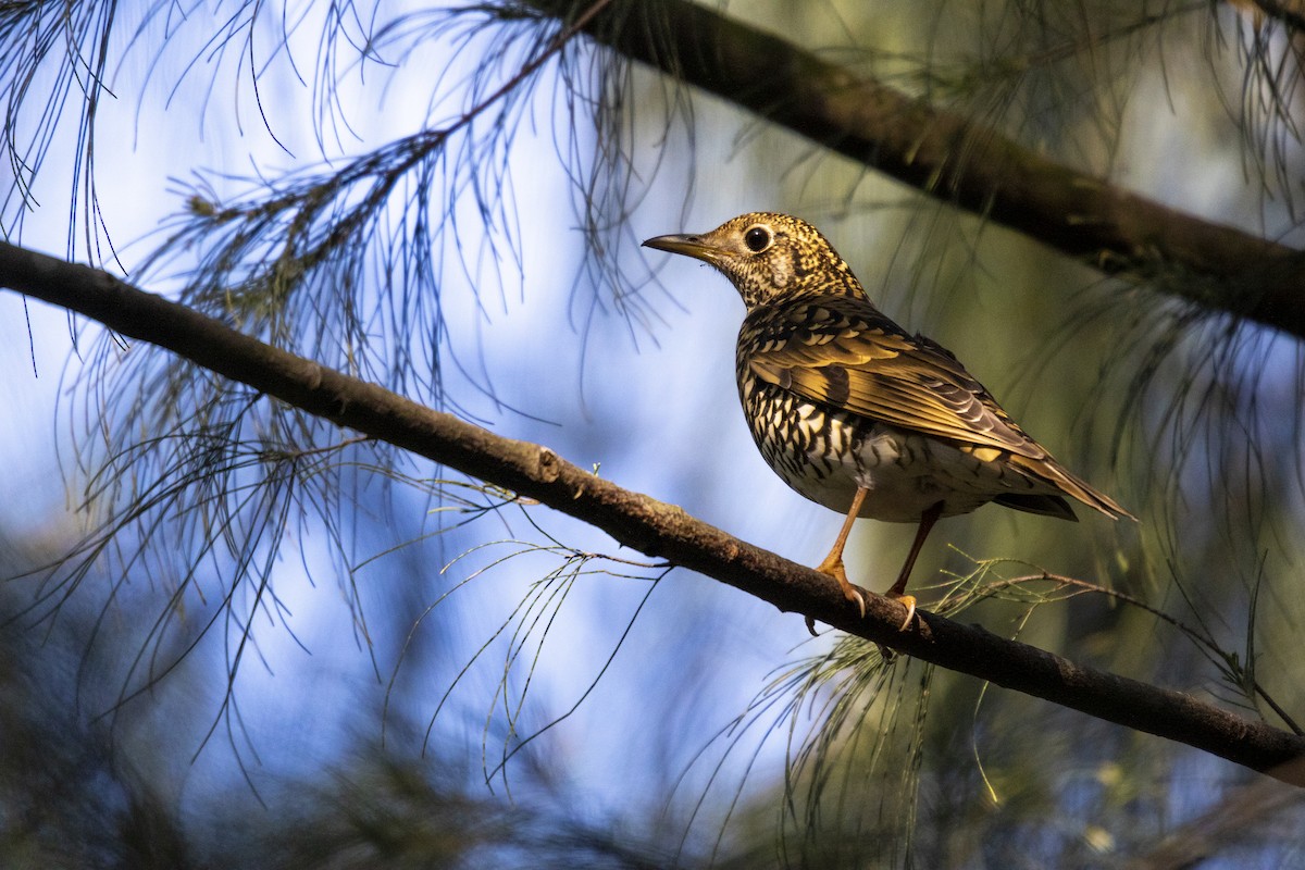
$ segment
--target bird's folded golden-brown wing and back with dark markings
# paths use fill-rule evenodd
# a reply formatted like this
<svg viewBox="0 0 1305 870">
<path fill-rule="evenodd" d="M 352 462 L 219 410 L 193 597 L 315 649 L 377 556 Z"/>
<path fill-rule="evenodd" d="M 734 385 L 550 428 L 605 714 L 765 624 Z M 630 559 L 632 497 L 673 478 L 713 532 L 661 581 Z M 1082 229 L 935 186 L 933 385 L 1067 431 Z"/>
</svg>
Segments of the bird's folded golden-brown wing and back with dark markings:
<svg viewBox="0 0 1305 870">
<path fill-rule="evenodd" d="M 865 301 L 757 309 L 744 329 L 758 339 L 749 368 L 767 383 L 902 429 L 1047 458 L 950 352 Z"/>
</svg>

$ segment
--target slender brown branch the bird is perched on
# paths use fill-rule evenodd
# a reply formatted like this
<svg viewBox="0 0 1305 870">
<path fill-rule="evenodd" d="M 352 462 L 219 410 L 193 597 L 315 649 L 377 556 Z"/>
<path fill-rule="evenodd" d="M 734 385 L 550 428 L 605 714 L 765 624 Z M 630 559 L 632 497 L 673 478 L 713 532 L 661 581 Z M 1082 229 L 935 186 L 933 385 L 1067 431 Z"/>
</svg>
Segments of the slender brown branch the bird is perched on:
<svg viewBox="0 0 1305 870">
<path fill-rule="evenodd" d="M 921 612 L 914 629 L 898 631 L 900 605 L 876 595 L 868 596 L 861 620 L 825 575 L 680 507 L 595 477 L 540 445 L 496 436 L 264 344 L 108 273 L 0 243 L 0 287 L 78 312 L 308 413 L 535 498 L 620 544 L 728 583 L 783 612 L 1305 785 L 1305 737 L 930 613 Z"/>
</svg>

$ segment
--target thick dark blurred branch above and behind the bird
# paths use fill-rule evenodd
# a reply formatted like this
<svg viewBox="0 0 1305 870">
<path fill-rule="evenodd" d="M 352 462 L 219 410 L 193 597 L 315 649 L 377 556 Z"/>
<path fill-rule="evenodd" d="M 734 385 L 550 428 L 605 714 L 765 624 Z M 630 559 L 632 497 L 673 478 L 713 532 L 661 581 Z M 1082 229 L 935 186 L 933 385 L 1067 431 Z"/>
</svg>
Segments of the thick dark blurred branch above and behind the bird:
<svg viewBox="0 0 1305 870">
<path fill-rule="evenodd" d="M 574 4 L 532 0 L 548 14 Z M 1305 338 L 1305 253 L 1077 172 L 688 0 L 613 3 L 596 42 L 1108 274 Z"/>
</svg>

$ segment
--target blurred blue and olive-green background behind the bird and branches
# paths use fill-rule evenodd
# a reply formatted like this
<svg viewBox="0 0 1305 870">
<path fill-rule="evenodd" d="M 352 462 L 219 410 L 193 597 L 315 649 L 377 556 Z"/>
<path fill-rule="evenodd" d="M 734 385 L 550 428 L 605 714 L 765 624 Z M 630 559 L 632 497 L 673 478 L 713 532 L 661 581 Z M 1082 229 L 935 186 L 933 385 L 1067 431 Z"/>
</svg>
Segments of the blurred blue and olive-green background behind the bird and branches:
<svg viewBox="0 0 1305 870">
<path fill-rule="evenodd" d="M 724 13 L 1298 247 L 1295 18 L 1262 5 Z M 801 215 L 1141 520 L 947 520 L 921 607 L 1300 720 L 1300 346 L 1167 295 L 1190 277 L 1103 278 L 585 37 L 552 51 L 552 4 L 38 7 L 0 12 L 9 241 L 813 565 L 840 520 L 748 436 L 740 300 L 638 247 Z M 5 866 L 1305 866 L 1293 789 L 810 638 L 157 348 L 0 307 Z M 853 580 L 885 588 L 912 533 L 859 523 Z M 1171 621 L 1011 582 L 1043 573 Z"/>
</svg>

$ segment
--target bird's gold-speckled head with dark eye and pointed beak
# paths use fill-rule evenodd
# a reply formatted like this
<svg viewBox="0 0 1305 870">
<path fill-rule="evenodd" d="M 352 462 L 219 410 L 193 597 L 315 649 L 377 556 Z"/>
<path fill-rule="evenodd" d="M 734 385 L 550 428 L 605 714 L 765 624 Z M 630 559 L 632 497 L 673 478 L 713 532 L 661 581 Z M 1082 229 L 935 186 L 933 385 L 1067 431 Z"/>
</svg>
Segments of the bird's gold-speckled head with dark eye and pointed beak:
<svg viewBox="0 0 1305 870">
<path fill-rule="evenodd" d="M 733 282 L 748 310 L 806 293 L 865 296 L 825 236 L 787 214 L 753 211 L 711 232 L 656 236 L 643 245 L 715 266 Z"/>
</svg>

